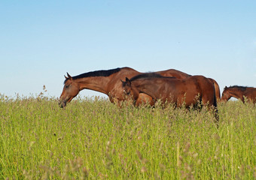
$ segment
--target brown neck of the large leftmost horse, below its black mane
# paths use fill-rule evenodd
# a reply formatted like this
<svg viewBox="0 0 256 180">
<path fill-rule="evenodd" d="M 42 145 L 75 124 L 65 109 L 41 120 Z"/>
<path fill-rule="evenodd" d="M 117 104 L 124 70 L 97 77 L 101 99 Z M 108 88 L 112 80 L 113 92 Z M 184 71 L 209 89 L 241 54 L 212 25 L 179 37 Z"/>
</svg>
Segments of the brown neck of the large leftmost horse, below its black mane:
<svg viewBox="0 0 256 180">
<path fill-rule="evenodd" d="M 90 89 L 108 95 L 108 82 L 110 81 L 109 77 L 84 77 L 75 81 L 78 83 L 79 91 L 83 89 Z"/>
</svg>

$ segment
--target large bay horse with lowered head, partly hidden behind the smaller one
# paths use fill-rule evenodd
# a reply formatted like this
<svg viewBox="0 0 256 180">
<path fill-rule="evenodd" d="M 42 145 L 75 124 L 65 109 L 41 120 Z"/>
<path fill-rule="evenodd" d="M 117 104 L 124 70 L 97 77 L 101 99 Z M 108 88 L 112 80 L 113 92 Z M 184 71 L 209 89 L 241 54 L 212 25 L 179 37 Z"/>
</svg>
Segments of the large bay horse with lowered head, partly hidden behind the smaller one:
<svg viewBox="0 0 256 180">
<path fill-rule="evenodd" d="M 178 79 L 190 77 L 189 74 L 185 74 L 175 69 L 158 71 L 156 73 L 163 77 L 175 77 Z M 105 95 L 108 95 L 111 103 L 118 103 L 124 100 L 122 83 L 120 80 L 123 80 L 125 77 L 132 78 L 139 74 L 142 73 L 134 70 L 133 68 L 127 67 L 115 68 L 111 70 L 91 71 L 75 77 L 72 77 L 67 73 L 67 77 L 64 76 L 66 80 L 64 81 L 62 94 L 59 98 L 59 106 L 66 107 L 66 103 L 72 101 L 72 99 L 75 98 L 83 89 L 102 92 Z M 215 83 L 218 86 L 218 83 L 215 82 L 215 80 L 213 80 L 212 83 Z M 216 92 L 219 92 L 219 88 L 216 89 Z M 141 93 L 136 101 L 136 106 L 146 102 L 151 104 L 151 106 L 154 105 L 154 101 L 150 96 Z"/>
</svg>

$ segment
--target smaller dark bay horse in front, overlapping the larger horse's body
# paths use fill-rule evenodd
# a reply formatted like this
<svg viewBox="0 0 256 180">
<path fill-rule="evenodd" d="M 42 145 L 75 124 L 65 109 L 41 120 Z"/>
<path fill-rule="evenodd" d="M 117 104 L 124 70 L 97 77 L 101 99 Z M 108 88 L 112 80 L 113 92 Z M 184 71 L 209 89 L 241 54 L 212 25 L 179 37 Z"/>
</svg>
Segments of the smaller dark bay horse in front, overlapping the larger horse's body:
<svg viewBox="0 0 256 180">
<path fill-rule="evenodd" d="M 200 104 L 208 107 L 214 107 L 217 115 L 217 101 L 215 96 L 215 87 L 212 82 L 203 76 L 191 76 L 183 80 L 173 77 L 162 77 L 160 74 L 139 74 L 131 79 L 126 77 L 121 81 L 123 93 L 131 96 L 134 102 L 139 98 L 140 93 L 151 96 L 154 101 L 160 100 L 175 104 L 175 107 L 188 108 L 191 105 L 197 107 Z"/>
</svg>

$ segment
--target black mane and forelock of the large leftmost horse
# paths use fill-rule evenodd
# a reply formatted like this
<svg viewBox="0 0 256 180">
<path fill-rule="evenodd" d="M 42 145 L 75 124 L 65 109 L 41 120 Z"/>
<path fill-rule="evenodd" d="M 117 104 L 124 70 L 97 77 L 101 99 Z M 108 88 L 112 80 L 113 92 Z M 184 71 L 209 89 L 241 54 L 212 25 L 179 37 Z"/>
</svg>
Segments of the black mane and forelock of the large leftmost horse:
<svg viewBox="0 0 256 180">
<path fill-rule="evenodd" d="M 72 77 L 73 80 L 78 80 L 84 77 L 109 77 L 111 74 L 115 74 L 121 71 L 123 68 L 115 68 L 111 70 L 100 70 L 100 71 L 90 71 L 88 73 L 79 74 L 78 76 Z M 67 80 L 64 81 L 64 84 Z"/>
</svg>

